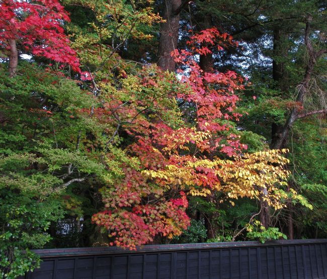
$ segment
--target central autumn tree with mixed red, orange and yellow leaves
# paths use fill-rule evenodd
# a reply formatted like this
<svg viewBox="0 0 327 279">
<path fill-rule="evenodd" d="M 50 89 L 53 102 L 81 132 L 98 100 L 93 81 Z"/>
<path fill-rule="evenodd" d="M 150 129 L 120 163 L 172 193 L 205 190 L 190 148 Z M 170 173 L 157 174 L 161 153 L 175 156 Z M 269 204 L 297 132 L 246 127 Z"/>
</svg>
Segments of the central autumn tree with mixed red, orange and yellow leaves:
<svg viewBox="0 0 327 279">
<path fill-rule="evenodd" d="M 155 68 L 151 69 L 155 74 L 141 75 L 133 84 L 130 82 L 135 77 L 132 80 L 126 77 L 124 85 L 135 88 L 131 92 L 138 88 L 139 94 L 144 91 L 152 96 L 157 90 L 161 94 L 148 98 L 150 103 L 138 100 L 139 113 L 133 112 L 137 108 L 133 103 L 125 107 L 121 102 L 115 109 L 118 123 L 135 136 L 135 143 L 128 148 L 140 165 L 136 169 L 127 168 L 121 182 L 118 180 L 101 190 L 106 210 L 94 215 L 93 221 L 110 232 L 112 245 L 134 249 L 135 245 L 152 241 L 157 234 L 178 236 L 189 224 L 185 214 L 187 195 L 207 197 L 220 192 L 224 196 L 221 202 L 234 205 L 231 199 L 264 199 L 276 209 L 284 207 L 283 201 L 288 199 L 305 204 L 295 192 L 288 196 L 283 190 L 288 175 L 283 166 L 287 159 L 279 151 L 241 155 L 247 146 L 228 132 L 230 124 L 226 120 L 240 117 L 234 110 L 238 101 L 236 92 L 243 89 L 242 78 L 232 71 L 203 72 L 193 58 L 194 53 L 210 52 L 208 46 L 215 47 L 217 41 L 233 43 L 229 35 L 212 28 L 190 37 L 190 51 L 176 49 L 171 53 L 181 66 L 178 71 L 181 82 L 175 81 L 177 90 L 172 90 L 172 81 L 166 83 L 165 75 L 169 74 Z M 128 94 L 124 86 L 119 91 Z M 177 118 L 177 123 L 167 119 L 173 112 L 178 115 L 176 99 L 196 108 L 191 127 L 182 118 Z M 169 107 L 165 105 L 167 102 Z M 162 107 L 156 109 L 160 104 Z M 219 159 L 218 154 L 233 159 Z M 137 224 L 132 225 L 132 220 Z"/>
</svg>

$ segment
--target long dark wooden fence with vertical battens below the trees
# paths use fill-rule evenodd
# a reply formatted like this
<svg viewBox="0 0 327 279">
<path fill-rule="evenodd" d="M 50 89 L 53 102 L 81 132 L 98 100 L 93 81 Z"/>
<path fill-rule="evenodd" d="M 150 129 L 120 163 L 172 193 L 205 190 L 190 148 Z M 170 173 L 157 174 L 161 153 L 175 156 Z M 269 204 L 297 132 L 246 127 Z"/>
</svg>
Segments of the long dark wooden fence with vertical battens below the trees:
<svg viewBox="0 0 327 279">
<path fill-rule="evenodd" d="M 327 239 L 35 251 L 25 279 L 327 278 Z"/>
</svg>

